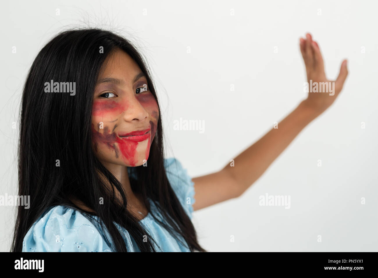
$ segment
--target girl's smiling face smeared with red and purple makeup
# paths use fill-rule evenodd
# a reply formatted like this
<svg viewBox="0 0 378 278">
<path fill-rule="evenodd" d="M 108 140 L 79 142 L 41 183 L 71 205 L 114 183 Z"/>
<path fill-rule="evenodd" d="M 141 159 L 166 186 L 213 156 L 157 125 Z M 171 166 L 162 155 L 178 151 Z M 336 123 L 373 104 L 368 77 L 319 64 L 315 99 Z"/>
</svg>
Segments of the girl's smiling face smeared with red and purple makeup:
<svg viewBox="0 0 378 278">
<path fill-rule="evenodd" d="M 138 64 L 124 51 L 109 56 L 96 83 L 93 148 L 103 162 L 139 166 L 149 157 L 159 109 Z"/>
</svg>

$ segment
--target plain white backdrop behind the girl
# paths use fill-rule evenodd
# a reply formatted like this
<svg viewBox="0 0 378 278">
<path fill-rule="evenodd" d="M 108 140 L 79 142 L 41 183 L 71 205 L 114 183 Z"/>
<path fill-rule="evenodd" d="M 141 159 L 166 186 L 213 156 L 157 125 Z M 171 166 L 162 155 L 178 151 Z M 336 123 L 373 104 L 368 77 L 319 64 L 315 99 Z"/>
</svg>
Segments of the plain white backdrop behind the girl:
<svg viewBox="0 0 378 278">
<path fill-rule="evenodd" d="M 378 251 L 376 2 L 178 2 L 2 2 L 0 195 L 17 194 L 12 123 L 26 73 L 57 32 L 122 30 L 138 45 L 155 79 L 167 156 L 192 177 L 220 170 L 304 99 L 299 37 L 311 32 L 328 77 L 348 59 L 341 95 L 240 198 L 196 211 L 193 222 L 209 251 Z M 204 132 L 174 130 L 180 117 L 203 120 Z M 242 136 L 231 139 L 235 130 Z M 259 206 L 266 193 L 290 195 L 290 209 Z M 10 250 L 14 215 L 0 206 L 0 251 Z"/>
</svg>

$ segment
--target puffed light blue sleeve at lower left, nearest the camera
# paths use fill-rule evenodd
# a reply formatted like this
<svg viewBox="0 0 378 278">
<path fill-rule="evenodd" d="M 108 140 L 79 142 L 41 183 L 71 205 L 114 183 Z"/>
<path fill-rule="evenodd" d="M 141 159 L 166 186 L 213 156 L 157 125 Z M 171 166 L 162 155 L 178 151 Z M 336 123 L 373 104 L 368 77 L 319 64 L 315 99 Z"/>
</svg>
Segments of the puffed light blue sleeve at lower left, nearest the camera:
<svg viewBox="0 0 378 278">
<path fill-rule="evenodd" d="M 22 252 L 111 252 L 102 234 L 80 212 L 51 208 L 23 239 Z"/>
</svg>

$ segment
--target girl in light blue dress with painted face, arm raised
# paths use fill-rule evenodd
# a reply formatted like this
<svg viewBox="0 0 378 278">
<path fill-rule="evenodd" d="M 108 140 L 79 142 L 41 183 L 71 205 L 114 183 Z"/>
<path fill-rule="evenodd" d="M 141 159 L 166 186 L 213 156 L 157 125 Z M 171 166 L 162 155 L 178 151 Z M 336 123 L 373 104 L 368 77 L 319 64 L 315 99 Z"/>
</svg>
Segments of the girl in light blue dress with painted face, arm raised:
<svg viewBox="0 0 378 278">
<path fill-rule="evenodd" d="M 300 48 L 308 82 L 329 82 L 310 34 Z M 308 93 L 232 165 L 191 179 L 177 159 L 164 159 L 155 88 L 130 42 L 100 29 L 60 33 L 23 90 L 19 195 L 30 196 L 30 208 L 19 207 L 12 251 L 205 251 L 192 212 L 240 196 L 332 104 L 346 77 L 344 60 L 330 93 Z"/>
</svg>

